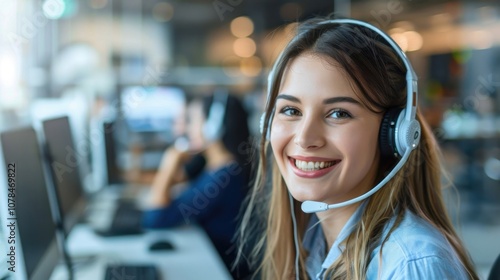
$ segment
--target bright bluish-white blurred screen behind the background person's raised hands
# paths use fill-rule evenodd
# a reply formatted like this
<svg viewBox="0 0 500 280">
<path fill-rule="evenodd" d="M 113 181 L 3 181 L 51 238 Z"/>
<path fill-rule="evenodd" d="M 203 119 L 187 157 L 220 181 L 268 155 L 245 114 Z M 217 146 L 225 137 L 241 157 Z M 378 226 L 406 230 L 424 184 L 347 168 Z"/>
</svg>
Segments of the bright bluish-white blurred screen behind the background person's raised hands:
<svg viewBox="0 0 500 280">
<path fill-rule="evenodd" d="M 185 94 L 178 87 L 123 88 L 120 94 L 123 118 L 134 132 L 171 132 L 175 120 L 183 114 Z"/>
</svg>

